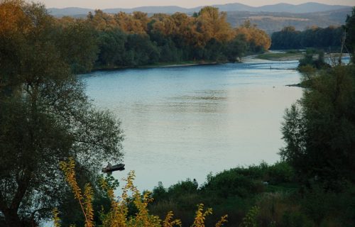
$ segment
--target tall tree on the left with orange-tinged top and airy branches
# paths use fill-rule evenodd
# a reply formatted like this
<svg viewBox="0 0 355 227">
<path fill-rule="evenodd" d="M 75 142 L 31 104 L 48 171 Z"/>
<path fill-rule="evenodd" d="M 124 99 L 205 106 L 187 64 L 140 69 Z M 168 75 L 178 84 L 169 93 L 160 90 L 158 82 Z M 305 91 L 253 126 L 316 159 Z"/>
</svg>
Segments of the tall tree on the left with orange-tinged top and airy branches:
<svg viewBox="0 0 355 227">
<path fill-rule="evenodd" d="M 55 42 L 45 7 L 0 1 L 0 219 L 28 226 L 58 206 L 60 160 L 121 160 L 119 121 L 97 111 Z"/>
</svg>

